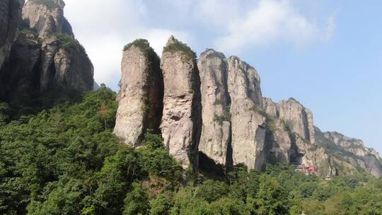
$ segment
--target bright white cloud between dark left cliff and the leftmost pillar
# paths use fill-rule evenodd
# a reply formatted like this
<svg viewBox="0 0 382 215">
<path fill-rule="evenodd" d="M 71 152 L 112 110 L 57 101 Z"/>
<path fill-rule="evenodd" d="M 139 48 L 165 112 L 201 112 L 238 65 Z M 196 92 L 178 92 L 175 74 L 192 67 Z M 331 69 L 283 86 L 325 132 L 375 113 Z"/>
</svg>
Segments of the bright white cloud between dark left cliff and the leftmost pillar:
<svg viewBox="0 0 382 215">
<path fill-rule="evenodd" d="M 144 1 L 66 0 L 65 16 L 93 62 L 94 79 L 116 89 L 120 79 L 122 49 L 137 38 L 146 38 L 161 55 L 170 35 L 190 40 L 180 30 L 147 28 L 149 13 Z"/>
</svg>

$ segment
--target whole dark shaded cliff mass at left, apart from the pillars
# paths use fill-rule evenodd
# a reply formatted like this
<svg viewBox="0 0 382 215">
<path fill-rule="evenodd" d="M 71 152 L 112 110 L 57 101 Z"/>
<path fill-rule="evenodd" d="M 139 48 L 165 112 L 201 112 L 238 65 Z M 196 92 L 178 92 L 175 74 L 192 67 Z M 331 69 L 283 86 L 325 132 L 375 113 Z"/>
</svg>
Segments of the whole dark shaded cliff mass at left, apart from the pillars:
<svg viewBox="0 0 382 215">
<path fill-rule="evenodd" d="M 21 6 L 23 1 L 0 4 L 0 100 L 19 103 L 48 91 L 91 91 L 93 65 L 64 18 L 64 2 L 28 1 L 23 23 Z"/>
</svg>

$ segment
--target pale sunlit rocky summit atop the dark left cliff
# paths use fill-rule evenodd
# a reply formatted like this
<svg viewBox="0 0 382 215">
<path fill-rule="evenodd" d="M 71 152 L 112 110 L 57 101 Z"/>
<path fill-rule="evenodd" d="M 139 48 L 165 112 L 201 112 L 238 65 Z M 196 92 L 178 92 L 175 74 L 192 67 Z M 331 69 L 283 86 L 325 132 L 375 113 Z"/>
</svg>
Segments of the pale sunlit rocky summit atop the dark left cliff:
<svg viewBox="0 0 382 215">
<path fill-rule="evenodd" d="M 42 38 L 53 33 L 73 35 L 64 6 L 62 0 L 29 0 L 23 8 L 23 22 Z"/>
</svg>

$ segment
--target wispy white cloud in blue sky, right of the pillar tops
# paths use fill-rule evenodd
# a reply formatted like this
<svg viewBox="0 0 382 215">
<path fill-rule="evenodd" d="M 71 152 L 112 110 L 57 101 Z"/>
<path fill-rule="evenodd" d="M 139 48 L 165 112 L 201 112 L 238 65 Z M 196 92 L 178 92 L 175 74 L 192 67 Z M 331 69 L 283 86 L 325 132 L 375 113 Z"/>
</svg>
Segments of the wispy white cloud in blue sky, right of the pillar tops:
<svg viewBox="0 0 382 215">
<path fill-rule="evenodd" d="M 227 34 L 216 40 L 223 51 L 238 52 L 245 47 L 289 42 L 303 47 L 311 42 L 328 40 L 335 26 L 335 16 L 325 28 L 303 16 L 290 1 L 260 0 L 244 17 L 228 21 Z"/>
</svg>

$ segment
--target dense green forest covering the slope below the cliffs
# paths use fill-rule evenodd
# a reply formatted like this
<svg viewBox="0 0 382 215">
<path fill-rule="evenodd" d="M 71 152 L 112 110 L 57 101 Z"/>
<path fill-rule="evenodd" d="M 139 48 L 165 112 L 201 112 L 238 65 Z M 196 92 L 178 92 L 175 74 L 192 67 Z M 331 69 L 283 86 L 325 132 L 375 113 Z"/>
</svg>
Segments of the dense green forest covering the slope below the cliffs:
<svg viewBox="0 0 382 215">
<path fill-rule="evenodd" d="M 0 214 L 382 214 L 366 173 L 183 170 L 151 132 L 132 149 L 112 134 L 115 97 L 102 86 L 32 114 L 0 103 Z"/>
</svg>

